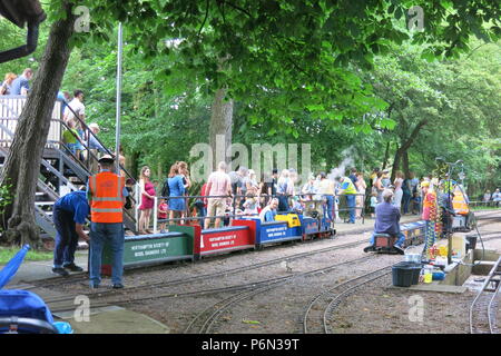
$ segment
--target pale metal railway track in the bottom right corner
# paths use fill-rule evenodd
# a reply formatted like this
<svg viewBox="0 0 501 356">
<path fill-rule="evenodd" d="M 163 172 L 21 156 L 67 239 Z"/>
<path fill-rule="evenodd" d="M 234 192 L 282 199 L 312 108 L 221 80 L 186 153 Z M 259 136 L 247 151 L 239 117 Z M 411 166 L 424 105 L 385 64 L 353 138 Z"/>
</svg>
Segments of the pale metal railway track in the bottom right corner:
<svg viewBox="0 0 501 356">
<path fill-rule="evenodd" d="M 501 257 L 470 305 L 470 334 L 499 334 L 498 304 L 501 288 Z"/>
</svg>

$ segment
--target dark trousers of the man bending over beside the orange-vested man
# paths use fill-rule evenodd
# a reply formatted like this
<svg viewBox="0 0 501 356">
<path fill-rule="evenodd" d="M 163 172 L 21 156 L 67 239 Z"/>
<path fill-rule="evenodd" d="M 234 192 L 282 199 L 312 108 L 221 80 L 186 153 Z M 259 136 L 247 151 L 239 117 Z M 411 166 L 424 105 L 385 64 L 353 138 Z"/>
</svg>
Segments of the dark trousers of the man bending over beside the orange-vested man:
<svg viewBox="0 0 501 356">
<path fill-rule="evenodd" d="M 56 247 L 53 249 L 53 267 L 71 265 L 75 261 L 75 251 L 78 245 L 78 235 L 75 229 L 73 214 L 57 206 L 52 212 L 56 227 Z"/>
</svg>

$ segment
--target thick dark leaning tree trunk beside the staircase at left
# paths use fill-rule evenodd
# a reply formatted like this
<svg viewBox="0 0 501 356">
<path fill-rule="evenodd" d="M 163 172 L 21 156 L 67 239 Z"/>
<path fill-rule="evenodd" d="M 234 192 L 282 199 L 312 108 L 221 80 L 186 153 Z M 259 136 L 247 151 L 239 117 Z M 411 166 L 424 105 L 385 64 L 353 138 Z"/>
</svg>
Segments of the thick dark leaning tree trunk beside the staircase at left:
<svg viewBox="0 0 501 356">
<path fill-rule="evenodd" d="M 40 68 L 30 95 L 19 117 L 16 136 L 6 160 L 0 185 L 12 186 L 12 205 L 6 207 L 9 241 L 39 246 L 39 228 L 35 221 L 35 192 L 40 171 L 40 158 L 47 142 L 56 96 L 71 52 L 69 39 L 75 17 L 65 3 L 66 19 L 51 27 Z"/>
</svg>

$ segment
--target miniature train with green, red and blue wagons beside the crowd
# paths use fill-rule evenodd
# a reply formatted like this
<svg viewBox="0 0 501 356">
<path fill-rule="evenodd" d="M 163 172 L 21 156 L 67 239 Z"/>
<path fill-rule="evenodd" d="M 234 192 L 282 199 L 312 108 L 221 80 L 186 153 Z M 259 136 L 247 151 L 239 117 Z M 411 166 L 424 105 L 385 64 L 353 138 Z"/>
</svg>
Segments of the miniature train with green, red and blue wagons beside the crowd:
<svg viewBox="0 0 501 356">
<path fill-rule="evenodd" d="M 424 239 L 424 221 L 401 225 L 405 245 L 419 245 Z M 198 260 L 202 257 L 235 250 L 261 250 L 267 245 L 335 236 L 336 230 L 324 218 L 296 214 L 277 215 L 272 222 L 258 218 L 235 219 L 232 226 L 202 230 L 198 225 L 169 226 L 169 233 L 126 236 L 124 267 L 158 265 L 174 260 Z M 105 246 L 102 273 L 111 273 L 111 250 Z"/>
</svg>

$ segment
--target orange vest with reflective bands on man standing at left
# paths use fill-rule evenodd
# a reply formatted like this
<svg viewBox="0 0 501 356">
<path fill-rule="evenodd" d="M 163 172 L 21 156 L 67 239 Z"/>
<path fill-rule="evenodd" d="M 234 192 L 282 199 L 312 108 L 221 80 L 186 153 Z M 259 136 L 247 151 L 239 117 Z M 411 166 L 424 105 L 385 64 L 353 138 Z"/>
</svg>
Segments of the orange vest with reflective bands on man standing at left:
<svg viewBox="0 0 501 356">
<path fill-rule="evenodd" d="M 92 222 L 124 222 L 122 189 L 125 177 L 109 171 L 101 171 L 89 179 L 90 220 Z"/>
</svg>

